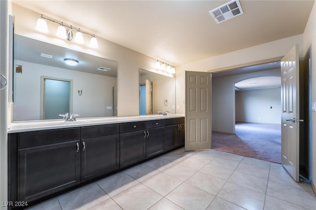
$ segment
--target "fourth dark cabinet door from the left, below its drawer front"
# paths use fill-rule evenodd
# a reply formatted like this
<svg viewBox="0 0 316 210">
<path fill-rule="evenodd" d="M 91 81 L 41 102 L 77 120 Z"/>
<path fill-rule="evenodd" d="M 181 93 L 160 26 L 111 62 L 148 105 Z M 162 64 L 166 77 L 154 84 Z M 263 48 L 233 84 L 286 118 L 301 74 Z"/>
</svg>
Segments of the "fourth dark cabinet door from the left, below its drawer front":
<svg viewBox="0 0 316 210">
<path fill-rule="evenodd" d="M 146 158 L 164 152 L 164 127 L 149 129 L 146 133 Z"/>
</svg>

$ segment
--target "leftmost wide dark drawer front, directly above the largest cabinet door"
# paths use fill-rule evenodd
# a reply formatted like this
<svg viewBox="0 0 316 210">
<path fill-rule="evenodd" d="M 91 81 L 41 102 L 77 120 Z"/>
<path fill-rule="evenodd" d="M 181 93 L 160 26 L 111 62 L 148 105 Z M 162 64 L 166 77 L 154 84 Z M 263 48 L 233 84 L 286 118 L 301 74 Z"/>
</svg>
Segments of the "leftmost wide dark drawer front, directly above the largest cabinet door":
<svg viewBox="0 0 316 210">
<path fill-rule="evenodd" d="M 80 128 L 23 132 L 19 134 L 18 148 L 79 139 Z"/>
</svg>

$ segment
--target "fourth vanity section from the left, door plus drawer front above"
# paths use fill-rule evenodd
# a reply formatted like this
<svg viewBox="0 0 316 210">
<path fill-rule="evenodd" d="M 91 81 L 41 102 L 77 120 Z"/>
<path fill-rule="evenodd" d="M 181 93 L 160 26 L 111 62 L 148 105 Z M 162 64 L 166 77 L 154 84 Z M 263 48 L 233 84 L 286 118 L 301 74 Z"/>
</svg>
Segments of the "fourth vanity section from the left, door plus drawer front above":
<svg viewBox="0 0 316 210">
<path fill-rule="evenodd" d="M 164 152 L 164 120 L 146 122 L 146 158 Z"/>
</svg>

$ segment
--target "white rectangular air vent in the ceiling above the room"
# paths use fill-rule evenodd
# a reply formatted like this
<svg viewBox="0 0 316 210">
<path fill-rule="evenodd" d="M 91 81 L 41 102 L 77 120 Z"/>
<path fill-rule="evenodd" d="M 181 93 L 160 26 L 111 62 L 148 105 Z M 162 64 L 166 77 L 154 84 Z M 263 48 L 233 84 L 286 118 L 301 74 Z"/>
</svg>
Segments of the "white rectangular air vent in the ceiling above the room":
<svg viewBox="0 0 316 210">
<path fill-rule="evenodd" d="M 233 17 L 243 14 L 239 0 L 232 0 L 222 6 L 209 11 L 209 14 L 214 18 L 216 23 L 222 23 Z"/>
</svg>

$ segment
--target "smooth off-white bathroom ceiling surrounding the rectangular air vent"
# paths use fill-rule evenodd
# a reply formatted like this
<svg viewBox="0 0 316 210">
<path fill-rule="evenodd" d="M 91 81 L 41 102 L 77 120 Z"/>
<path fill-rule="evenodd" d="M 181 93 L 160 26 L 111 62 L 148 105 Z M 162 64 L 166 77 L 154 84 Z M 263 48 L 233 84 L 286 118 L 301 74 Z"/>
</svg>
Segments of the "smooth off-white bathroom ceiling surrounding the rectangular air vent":
<svg viewBox="0 0 316 210">
<path fill-rule="evenodd" d="M 304 32 L 314 0 L 240 0 L 243 14 L 217 24 L 228 0 L 13 0 L 155 59 L 181 65 Z"/>
</svg>

